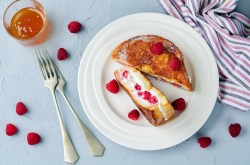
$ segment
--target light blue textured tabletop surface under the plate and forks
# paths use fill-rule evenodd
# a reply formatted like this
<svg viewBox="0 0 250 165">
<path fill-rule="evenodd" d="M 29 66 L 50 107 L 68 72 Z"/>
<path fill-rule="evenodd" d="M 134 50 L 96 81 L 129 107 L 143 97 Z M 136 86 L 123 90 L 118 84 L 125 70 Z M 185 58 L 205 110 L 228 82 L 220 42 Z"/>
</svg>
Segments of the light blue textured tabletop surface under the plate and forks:
<svg viewBox="0 0 250 165">
<path fill-rule="evenodd" d="M 7 35 L 2 25 L 2 15 L 10 0 L 0 1 L 0 165 L 61 165 L 63 149 L 59 123 L 51 95 L 42 85 L 38 65 L 32 48 L 23 47 Z M 138 12 L 164 13 L 157 0 L 41 0 L 39 1 L 52 22 L 52 31 L 44 44 L 67 80 L 66 94 L 81 119 L 106 146 L 103 157 L 92 157 L 86 141 L 74 117 L 61 97 L 60 107 L 67 129 L 80 156 L 76 164 L 143 164 L 143 165 L 221 165 L 250 163 L 250 113 L 216 103 L 205 125 L 187 141 L 159 151 L 137 151 L 122 147 L 100 134 L 87 119 L 77 92 L 77 72 L 81 56 L 94 35 L 111 21 Z M 240 8 L 250 16 L 250 1 L 241 0 Z M 80 21 L 85 29 L 71 34 L 67 25 L 72 20 Z M 68 50 L 70 58 L 56 60 L 58 48 Z M 15 105 L 23 101 L 29 113 L 18 116 Z M 202 111 L 203 107 L 200 107 Z M 239 137 L 233 139 L 228 133 L 230 123 L 243 126 Z M 5 125 L 18 126 L 17 135 L 5 135 Z M 28 132 L 38 132 L 42 142 L 29 146 Z M 201 149 L 197 137 L 210 136 L 212 145 Z"/>
</svg>

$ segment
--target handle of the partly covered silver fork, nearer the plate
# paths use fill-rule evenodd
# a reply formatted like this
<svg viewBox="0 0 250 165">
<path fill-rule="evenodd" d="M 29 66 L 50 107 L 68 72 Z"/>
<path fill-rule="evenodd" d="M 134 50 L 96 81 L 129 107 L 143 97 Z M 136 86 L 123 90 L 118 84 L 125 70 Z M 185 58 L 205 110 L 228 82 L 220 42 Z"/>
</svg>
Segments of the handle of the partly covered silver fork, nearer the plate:
<svg viewBox="0 0 250 165">
<path fill-rule="evenodd" d="M 73 113 L 74 117 L 76 118 L 78 124 L 80 125 L 87 141 L 88 141 L 88 145 L 89 148 L 91 150 L 91 153 L 93 156 L 102 156 L 103 152 L 105 150 L 105 147 L 103 146 L 103 144 L 89 131 L 89 129 L 84 125 L 84 123 L 81 121 L 80 117 L 77 115 L 77 113 L 75 112 L 75 110 L 73 109 L 72 105 L 70 104 L 68 98 L 66 97 L 66 95 L 64 94 L 64 92 L 59 91 L 64 100 L 66 101 L 67 105 L 69 106 L 71 112 Z"/>
</svg>

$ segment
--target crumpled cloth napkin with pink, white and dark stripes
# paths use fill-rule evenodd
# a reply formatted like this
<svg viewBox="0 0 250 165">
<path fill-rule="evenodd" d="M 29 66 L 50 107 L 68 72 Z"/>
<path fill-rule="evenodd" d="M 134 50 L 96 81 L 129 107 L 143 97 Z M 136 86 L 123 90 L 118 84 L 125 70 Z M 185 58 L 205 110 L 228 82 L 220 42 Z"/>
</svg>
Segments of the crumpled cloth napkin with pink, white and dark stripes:
<svg viewBox="0 0 250 165">
<path fill-rule="evenodd" d="M 220 76 L 218 99 L 250 109 L 250 19 L 232 12 L 238 0 L 159 0 L 166 13 L 193 27 L 210 46 Z"/>
</svg>

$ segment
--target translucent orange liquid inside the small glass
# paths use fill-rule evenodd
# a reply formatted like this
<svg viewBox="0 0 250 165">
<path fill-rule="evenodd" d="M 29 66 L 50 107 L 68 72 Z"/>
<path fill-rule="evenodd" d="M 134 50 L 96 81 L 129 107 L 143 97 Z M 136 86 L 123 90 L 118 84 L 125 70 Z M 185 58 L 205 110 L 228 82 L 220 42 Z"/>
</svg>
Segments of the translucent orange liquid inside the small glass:
<svg viewBox="0 0 250 165">
<path fill-rule="evenodd" d="M 12 18 L 8 31 L 18 39 L 36 36 L 44 26 L 44 18 L 39 10 L 23 8 Z"/>
</svg>

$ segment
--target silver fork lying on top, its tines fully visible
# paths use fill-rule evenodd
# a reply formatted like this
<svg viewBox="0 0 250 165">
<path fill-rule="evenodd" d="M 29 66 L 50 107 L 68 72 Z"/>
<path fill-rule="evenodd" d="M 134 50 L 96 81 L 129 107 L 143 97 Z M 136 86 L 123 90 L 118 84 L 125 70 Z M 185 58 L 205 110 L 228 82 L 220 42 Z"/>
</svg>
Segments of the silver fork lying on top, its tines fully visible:
<svg viewBox="0 0 250 165">
<path fill-rule="evenodd" d="M 45 48 L 36 49 L 36 57 L 37 57 L 37 61 L 39 63 L 39 66 L 42 72 L 43 84 L 45 87 L 50 89 L 50 92 L 52 94 L 52 97 L 56 106 L 56 112 L 59 118 L 59 123 L 60 123 L 60 128 L 61 128 L 61 133 L 62 133 L 64 161 L 74 164 L 78 159 L 78 155 L 69 138 L 69 135 L 67 133 L 67 130 L 64 126 L 64 123 L 61 117 L 61 113 L 58 108 L 58 104 L 57 104 L 57 100 L 55 96 L 55 89 L 58 84 L 58 79 L 57 79 L 57 74 L 55 72 L 55 68 Z"/>
</svg>

